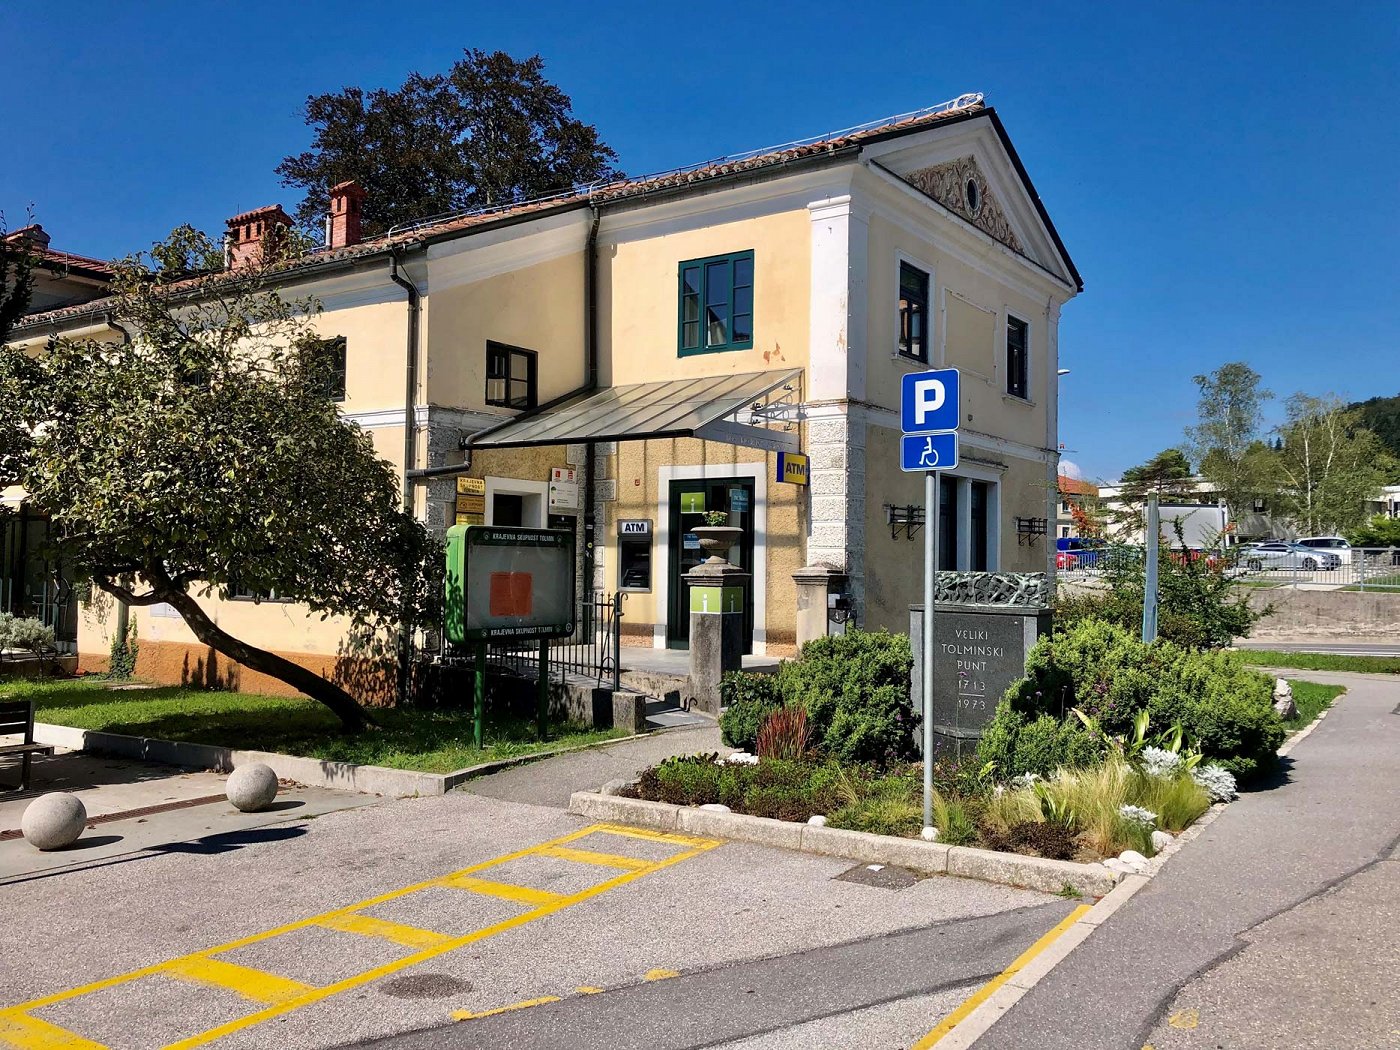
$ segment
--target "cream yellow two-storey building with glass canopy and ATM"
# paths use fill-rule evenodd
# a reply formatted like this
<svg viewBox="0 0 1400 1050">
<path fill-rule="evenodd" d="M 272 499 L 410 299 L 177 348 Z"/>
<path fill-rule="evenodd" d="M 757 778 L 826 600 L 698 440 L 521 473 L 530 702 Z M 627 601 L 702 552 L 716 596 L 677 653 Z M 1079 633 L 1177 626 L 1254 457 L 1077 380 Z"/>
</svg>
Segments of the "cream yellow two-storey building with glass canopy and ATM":
<svg viewBox="0 0 1400 1050">
<path fill-rule="evenodd" d="M 580 592 L 626 595 L 626 644 L 686 645 L 680 577 L 706 511 L 743 529 L 731 560 L 753 574 L 752 651 L 799 641 L 806 567 L 833 574 L 848 622 L 904 629 L 923 545 L 897 521 L 923 483 L 899 470 L 899 384 L 932 367 L 963 375 L 941 563 L 1053 571 L 1057 326 L 1081 281 L 980 97 L 374 241 L 358 238 L 358 189 L 332 199 L 330 244 L 286 286 L 344 339 L 344 416 L 435 529 L 458 514 L 575 529 Z M 230 220 L 235 266 L 280 216 Z M 778 475 L 787 454 L 808 456 L 808 484 Z M 458 477 L 480 482 L 461 504 Z M 340 624 L 298 606 L 209 608 L 312 666 L 340 643 Z M 111 624 L 83 619 L 85 658 L 99 662 Z M 140 636 L 161 652 L 148 673 L 207 668 L 179 619 L 157 609 Z"/>
</svg>

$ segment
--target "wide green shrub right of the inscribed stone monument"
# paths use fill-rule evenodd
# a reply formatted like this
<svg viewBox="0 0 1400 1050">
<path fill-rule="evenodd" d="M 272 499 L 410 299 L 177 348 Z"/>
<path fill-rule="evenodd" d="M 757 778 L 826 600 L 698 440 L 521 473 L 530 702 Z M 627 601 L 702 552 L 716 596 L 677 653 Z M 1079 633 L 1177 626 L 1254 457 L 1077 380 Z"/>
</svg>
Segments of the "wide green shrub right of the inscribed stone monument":
<svg viewBox="0 0 1400 1050">
<path fill-rule="evenodd" d="M 1152 725 L 1180 725 L 1193 748 L 1242 778 L 1271 764 L 1285 736 L 1273 708 L 1271 680 L 1236 654 L 1169 641 L 1144 645 L 1121 627 L 1082 620 L 1030 650 L 1026 678 L 1007 690 L 979 755 L 997 762 L 1004 777 L 1044 776 L 1044 769 L 1021 763 L 1047 762 L 1056 748 L 1084 755 L 1072 734 L 1061 738 L 1039 722 L 1042 715 L 1067 721 L 1072 707 L 1110 735 L 1130 734 L 1138 711 L 1147 711 Z M 1022 745 L 1030 725 L 1037 728 Z M 1067 757 L 1061 764 L 1078 760 Z"/>
</svg>

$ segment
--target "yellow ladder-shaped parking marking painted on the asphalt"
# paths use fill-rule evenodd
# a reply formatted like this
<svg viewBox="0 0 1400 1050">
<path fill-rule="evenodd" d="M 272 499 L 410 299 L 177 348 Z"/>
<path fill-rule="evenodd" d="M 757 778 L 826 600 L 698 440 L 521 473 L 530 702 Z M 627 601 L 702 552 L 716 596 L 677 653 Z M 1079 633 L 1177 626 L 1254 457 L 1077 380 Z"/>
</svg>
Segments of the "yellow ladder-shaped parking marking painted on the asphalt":
<svg viewBox="0 0 1400 1050">
<path fill-rule="evenodd" d="M 526 847 L 524 850 L 517 850 L 501 857 L 494 857 L 472 867 L 463 868 L 458 872 L 449 875 L 426 879 L 423 882 L 413 883 L 410 886 L 403 886 L 396 890 L 389 890 L 388 893 L 381 893 L 368 900 L 361 900 L 356 904 L 347 904 L 332 911 L 322 913 L 319 916 L 308 916 L 307 918 L 297 920 L 294 923 L 287 923 L 286 925 L 276 927 L 273 930 L 266 930 L 259 934 L 252 934 L 249 937 L 239 938 L 237 941 L 230 941 L 228 944 L 217 945 L 214 948 L 206 948 L 199 952 L 190 952 L 189 955 L 181 956 L 178 959 L 169 959 L 165 962 L 155 963 L 153 966 L 144 966 L 129 973 L 123 973 L 115 977 L 108 977 L 105 980 L 94 981 L 91 984 L 84 984 L 77 988 L 69 988 L 66 991 L 53 993 L 42 998 L 31 1000 L 28 1002 L 21 1002 L 14 1007 L 0 1009 L 0 1046 L 15 1047 L 15 1050 L 104 1050 L 101 1043 L 84 1039 L 83 1036 L 70 1032 L 57 1025 L 52 1025 L 41 1018 L 32 1016 L 32 1012 L 42 1009 L 45 1007 L 52 1007 L 59 1002 L 66 1002 L 69 1000 L 78 998 L 81 995 L 90 995 L 97 991 L 104 991 L 106 988 L 118 987 L 141 977 L 151 974 L 168 974 L 171 977 L 188 980 L 196 984 L 204 984 L 210 987 L 228 988 L 245 998 L 251 998 L 258 1002 L 266 1004 L 262 1009 L 235 1018 L 223 1025 L 211 1028 L 206 1032 L 199 1032 L 186 1039 L 175 1043 L 167 1044 L 165 1050 L 188 1050 L 197 1046 L 207 1046 L 227 1035 L 234 1032 L 241 1032 L 253 1025 L 259 1025 L 263 1021 L 269 1021 L 276 1016 L 281 1016 L 301 1007 L 319 1002 L 330 995 L 336 995 L 342 991 L 349 991 L 351 988 L 370 984 L 392 973 L 416 966 L 417 963 L 434 959 L 447 952 L 463 948 L 476 941 L 486 939 L 489 937 L 496 937 L 508 930 L 514 930 L 525 923 L 532 923 L 536 918 L 545 918 L 556 911 L 560 911 L 573 904 L 591 900 L 601 893 L 624 886 L 644 875 L 650 875 L 657 871 L 662 871 L 682 861 L 697 857 L 707 850 L 713 850 L 720 846 L 720 840 L 715 839 L 692 839 L 687 837 L 685 843 L 675 841 L 673 836 L 668 836 L 662 832 L 654 834 L 638 833 L 633 837 L 637 839 L 654 839 L 662 843 L 671 843 L 672 846 L 679 846 L 676 853 L 661 860 L 641 860 L 637 857 L 624 857 L 620 854 L 603 854 L 595 853 L 592 850 L 577 850 L 570 848 L 568 843 L 574 843 L 587 836 L 595 834 L 598 832 L 606 830 L 606 826 L 592 825 L 570 834 L 552 839 L 545 843 L 538 843 L 536 846 Z M 578 864 L 588 864 L 592 867 L 608 867 L 622 869 L 620 874 L 606 878 L 602 882 L 596 882 L 587 886 L 575 893 L 559 895 L 547 893 L 546 890 L 536 890 L 528 886 L 515 886 L 514 883 L 493 882 L 490 879 L 479 879 L 475 882 L 486 883 L 493 888 L 508 888 L 508 890 L 515 896 L 519 903 L 542 902 L 517 916 L 511 916 L 491 925 L 473 930 L 470 932 L 449 937 L 447 934 L 440 934 L 433 930 L 419 930 L 417 927 L 399 925 L 396 923 L 386 923 L 384 920 L 374 918 L 371 916 L 363 914 L 365 909 L 375 907 L 378 904 L 388 903 L 391 900 L 398 900 L 410 893 L 417 893 L 430 888 L 441 888 L 452 883 L 462 883 L 463 889 L 473 889 L 470 878 L 476 872 L 487 871 L 496 868 L 510 861 L 521 860 L 531 855 L 547 855 L 556 857 L 566 861 L 575 861 Z M 224 952 L 231 952 L 237 948 L 244 948 L 246 945 L 259 944 L 274 937 L 281 937 L 297 930 L 305 930 L 308 927 L 328 927 L 332 930 L 340 928 L 347 932 L 360 934 L 365 938 L 381 938 L 400 944 L 405 948 L 414 948 L 407 955 L 398 959 L 392 959 L 386 963 L 375 966 L 372 969 L 364 970 L 361 973 L 353 974 L 343 980 L 335 981 L 332 984 L 325 984 L 321 987 L 302 984 L 294 981 L 288 977 L 281 977 L 279 974 L 267 973 L 265 970 L 255 970 L 246 966 L 238 966 L 235 963 L 228 963 L 221 959 L 214 959 L 213 956 L 221 955 Z M 424 941 L 427 941 L 424 944 Z"/>
</svg>

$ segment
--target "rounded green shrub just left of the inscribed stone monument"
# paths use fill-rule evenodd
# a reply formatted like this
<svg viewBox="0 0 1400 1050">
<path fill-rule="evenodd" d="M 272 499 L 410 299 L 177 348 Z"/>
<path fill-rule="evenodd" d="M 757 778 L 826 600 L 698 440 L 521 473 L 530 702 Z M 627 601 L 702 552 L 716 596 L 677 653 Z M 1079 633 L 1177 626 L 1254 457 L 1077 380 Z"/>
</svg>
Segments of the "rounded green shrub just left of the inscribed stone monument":
<svg viewBox="0 0 1400 1050">
<path fill-rule="evenodd" d="M 778 683 L 787 703 L 806 708 L 815 748 L 885 766 L 916 753 L 911 665 L 907 636 L 853 630 L 806 643 Z"/>
</svg>

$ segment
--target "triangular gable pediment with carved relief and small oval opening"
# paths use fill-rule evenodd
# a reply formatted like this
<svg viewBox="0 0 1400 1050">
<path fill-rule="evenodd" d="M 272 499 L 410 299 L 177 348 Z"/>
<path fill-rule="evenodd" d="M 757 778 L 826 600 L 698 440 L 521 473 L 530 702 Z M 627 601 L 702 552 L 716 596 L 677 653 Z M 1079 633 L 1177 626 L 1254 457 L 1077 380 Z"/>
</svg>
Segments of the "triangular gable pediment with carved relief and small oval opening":
<svg viewBox="0 0 1400 1050">
<path fill-rule="evenodd" d="M 1079 287 L 1079 274 L 994 111 L 890 136 L 861 153 L 959 220 Z"/>
</svg>

